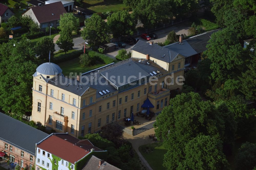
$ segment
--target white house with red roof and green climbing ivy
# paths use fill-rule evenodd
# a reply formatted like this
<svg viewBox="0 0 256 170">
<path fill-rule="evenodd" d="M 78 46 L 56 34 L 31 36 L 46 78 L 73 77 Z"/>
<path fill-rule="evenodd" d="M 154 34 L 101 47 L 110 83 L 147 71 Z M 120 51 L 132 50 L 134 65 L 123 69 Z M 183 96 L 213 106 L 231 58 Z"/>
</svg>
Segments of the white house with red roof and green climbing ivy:
<svg viewBox="0 0 256 170">
<path fill-rule="evenodd" d="M 77 139 L 68 133 L 52 133 L 36 144 L 36 170 L 73 169 L 80 170 L 84 159 L 94 153 L 106 155 L 89 140 Z M 79 168 L 81 167 L 81 168 Z"/>
</svg>

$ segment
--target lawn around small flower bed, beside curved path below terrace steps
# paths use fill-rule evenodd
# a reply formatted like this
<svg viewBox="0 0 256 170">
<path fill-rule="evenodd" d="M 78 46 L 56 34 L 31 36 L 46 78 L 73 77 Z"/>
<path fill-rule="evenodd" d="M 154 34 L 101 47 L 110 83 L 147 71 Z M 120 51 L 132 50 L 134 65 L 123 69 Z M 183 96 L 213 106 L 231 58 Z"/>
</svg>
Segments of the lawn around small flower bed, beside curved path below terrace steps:
<svg viewBox="0 0 256 170">
<path fill-rule="evenodd" d="M 149 147 L 153 151 L 150 153 L 143 152 L 143 148 Z M 164 154 L 167 152 L 166 149 L 163 147 L 162 142 L 154 142 L 146 145 L 142 145 L 139 147 L 139 151 L 141 152 L 142 156 L 147 160 L 149 165 L 152 169 L 158 170 L 158 169 L 165 169 L 163 167 L 163 160 L 164 160 Z"/>
</svg>

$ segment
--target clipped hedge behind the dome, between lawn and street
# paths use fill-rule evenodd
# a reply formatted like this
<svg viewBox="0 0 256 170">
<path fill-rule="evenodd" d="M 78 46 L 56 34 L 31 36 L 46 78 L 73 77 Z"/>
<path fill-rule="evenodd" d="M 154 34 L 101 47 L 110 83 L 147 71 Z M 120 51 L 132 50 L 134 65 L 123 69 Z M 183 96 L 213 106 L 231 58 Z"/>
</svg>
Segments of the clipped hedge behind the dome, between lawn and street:
<svg viewBox="0 0 256 170">
<path fill-rule="evenodd" d="M 67 54 L 65 54 L 65 52 L 54 54 L 54 57 L 51 58 L 51 61 L 54 63 L 61 63 L 77 58 L 81 54 L 83 54 L 83 50 L 69 50 Z"/>
</svg>

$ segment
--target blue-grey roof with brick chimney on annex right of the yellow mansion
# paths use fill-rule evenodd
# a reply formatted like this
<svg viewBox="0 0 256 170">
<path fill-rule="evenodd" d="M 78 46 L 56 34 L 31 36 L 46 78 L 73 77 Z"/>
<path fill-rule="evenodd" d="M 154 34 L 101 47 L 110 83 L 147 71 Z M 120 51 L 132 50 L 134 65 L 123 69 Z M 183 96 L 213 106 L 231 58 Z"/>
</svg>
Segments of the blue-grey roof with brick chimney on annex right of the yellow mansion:
<svg viewBox="0 0 256 170">
<path fill-rule="evenodd" d="M 183 40 L 181 44 L 179 42 L 175 42 L 164 47 L 168 48 L 169 50 L 175 51 L 183 55 L 184 57 L 189 57 L 191 55 L 197 54 L 197 52 L 189 45 L 186 40 Z"/>
</svg>

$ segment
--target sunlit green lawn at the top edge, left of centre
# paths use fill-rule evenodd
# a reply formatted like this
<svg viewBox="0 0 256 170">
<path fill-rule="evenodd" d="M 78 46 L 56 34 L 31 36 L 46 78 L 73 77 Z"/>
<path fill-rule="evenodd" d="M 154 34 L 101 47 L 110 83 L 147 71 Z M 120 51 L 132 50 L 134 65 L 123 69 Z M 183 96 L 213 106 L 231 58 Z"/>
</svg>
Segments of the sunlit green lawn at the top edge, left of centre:
<svg viewBox="0 0 256 170">
<path fill-rule="evenodd" d="M 84 7 L 97 13 L 107 11 L 119 11 L 126 8 L 126 6 L 122 2 L 116 0 L 84 0 L 83 2 Z"/>
</svg>

